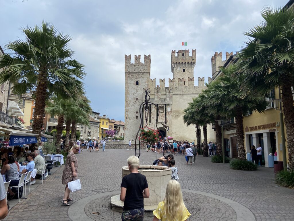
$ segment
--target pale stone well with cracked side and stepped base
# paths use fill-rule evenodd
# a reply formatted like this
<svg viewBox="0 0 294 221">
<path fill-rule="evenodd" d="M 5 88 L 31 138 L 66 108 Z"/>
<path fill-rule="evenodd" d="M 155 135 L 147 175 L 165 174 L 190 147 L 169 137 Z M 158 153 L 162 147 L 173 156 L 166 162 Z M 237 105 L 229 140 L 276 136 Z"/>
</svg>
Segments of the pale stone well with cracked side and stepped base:
<svg viewBox="0 0 294 221">
<path fill-rule="evenodd" d="M 144 210 L 153 211 L 165 197 L 167 183 L 171 180 L 171 169 L 167 166 L 140 165 L 138 172 L 146 177 L 150 192 L 149 198 L 144 198 Z M 130 174 L 128 166 L 123 166 L 122 177 L 128 174 Z M 119 196 L 111 197 L 111 206 L 112 210 L 122 212 L 123 201 Z"/>
</svg>

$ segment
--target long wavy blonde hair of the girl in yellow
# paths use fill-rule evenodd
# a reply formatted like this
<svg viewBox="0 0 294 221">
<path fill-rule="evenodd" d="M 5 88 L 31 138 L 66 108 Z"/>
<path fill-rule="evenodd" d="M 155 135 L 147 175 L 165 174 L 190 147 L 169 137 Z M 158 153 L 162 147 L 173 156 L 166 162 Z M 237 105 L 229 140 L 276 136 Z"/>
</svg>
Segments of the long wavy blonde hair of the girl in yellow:
<svg viewBox="0 0 294 221">
<path fill-rule="evenodd" d="M 183 220 L 183 211 L 186 206 L 183 201 L 181 184 L 172 179 L 166 186 L 166 196 L 163 200 L 165 208 L 163 214 L 166 215 L 167 220 Z"/>
</svg>

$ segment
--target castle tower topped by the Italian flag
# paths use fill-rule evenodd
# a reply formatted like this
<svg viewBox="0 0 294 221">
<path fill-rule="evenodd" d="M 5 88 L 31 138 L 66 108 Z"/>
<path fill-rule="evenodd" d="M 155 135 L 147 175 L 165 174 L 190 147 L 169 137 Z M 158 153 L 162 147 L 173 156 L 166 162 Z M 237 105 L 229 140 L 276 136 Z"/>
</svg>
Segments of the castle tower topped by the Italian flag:
<svg viewBox="0 0 294 221">
<path fill-rule="evenodd" d="M 196 50 L 192 50 L 192 56 L 189 56 L 189 50 L 178 50 L 177 56 L 176 50 L 171 51 L 171 72 L 173 72 L 175 87 L 178 87 L 179 79 L 184 80 L 184 84 L 188 85 L 188 77 L 194 77 L 195 64 Z"/>
</svg>

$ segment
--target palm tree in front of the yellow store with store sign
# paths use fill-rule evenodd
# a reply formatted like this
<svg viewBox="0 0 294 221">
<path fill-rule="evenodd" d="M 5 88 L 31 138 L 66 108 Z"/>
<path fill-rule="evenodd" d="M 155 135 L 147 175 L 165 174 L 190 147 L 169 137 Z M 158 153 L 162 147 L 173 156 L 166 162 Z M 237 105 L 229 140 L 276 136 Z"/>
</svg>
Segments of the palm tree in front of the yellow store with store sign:
<svg viewBox="0 0 294 221">
<path fill-rule="evenodd" d="M 215 114 L 224 119 L 235 118 L 238 158 L 245 160 L 243 117 L 253 111 L 263 113 L 267 102 L 263 95 L 252 93 L 249 88 L 242 87 L 246 75 L 234 76 L 237 70 L 238 65 L 235 64 L 226 68 L 220 67 L 223 75 L 208 85 L 208 91 L 209 97 L 213 97 L 210 102 L 222 106 Z"/>
</svg>

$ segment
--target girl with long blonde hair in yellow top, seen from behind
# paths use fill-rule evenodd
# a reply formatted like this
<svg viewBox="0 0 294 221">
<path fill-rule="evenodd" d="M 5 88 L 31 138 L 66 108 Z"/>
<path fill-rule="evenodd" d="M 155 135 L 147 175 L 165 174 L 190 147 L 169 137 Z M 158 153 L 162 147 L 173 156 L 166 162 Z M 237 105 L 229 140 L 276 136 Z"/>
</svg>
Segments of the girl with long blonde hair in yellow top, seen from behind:
<svg viewBox="0 0 294 221">
<path fill-rule="evenodd" d="M 153 211 L 153 221 L 186 221 L 191 215 L 182 196 L 181 184 L 172 179 L 166 187 L 166 196 Z"/>
</svg>

